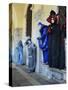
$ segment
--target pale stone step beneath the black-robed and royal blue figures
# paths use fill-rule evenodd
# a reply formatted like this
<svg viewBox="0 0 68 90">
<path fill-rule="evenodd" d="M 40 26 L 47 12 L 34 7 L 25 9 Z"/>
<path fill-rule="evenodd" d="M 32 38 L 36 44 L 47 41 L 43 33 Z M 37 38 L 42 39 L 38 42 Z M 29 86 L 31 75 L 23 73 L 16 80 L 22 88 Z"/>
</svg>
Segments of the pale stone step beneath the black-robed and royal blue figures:
<svg viewBox="0 0 68 90">
<path fill-rule="evenodd" d="M 41 63 L 40 74 L 47 77 L 47 79 L 53 79 L 58 82 L 66 82 L 66 70 L 50 68 L 48 65 Z"/>
</svg>

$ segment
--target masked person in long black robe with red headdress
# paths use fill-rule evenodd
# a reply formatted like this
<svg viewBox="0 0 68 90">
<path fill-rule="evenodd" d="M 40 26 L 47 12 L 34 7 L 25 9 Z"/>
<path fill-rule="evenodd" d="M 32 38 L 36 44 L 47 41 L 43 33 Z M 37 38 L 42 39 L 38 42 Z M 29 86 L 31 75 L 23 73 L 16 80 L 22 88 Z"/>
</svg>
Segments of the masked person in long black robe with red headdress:
<svg viewBox="0 0 68 90">
<path fill-rule="evenodd" d="M 50 16 L 47 18 L 47 21 L 50 23 L 48 29 L 48 63 L 52 68 L 59 68 L 61 35 L 55 11 L 52 10 L 50 12 Z"/>
</svg>

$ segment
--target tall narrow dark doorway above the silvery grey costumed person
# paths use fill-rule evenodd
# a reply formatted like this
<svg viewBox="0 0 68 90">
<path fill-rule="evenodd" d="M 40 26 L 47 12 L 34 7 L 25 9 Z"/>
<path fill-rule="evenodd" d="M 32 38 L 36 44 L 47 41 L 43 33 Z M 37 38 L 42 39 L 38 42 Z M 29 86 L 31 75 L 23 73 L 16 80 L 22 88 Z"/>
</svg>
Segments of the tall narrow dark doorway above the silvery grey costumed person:
<svg viewBox="0 0 68 90">
<path fill-rule="evenodd" d="M 26 15 L 26 36 L 31 37 L 32 33 L 32 4 L 28 5 L 27 15 Z"/>
</svg>

